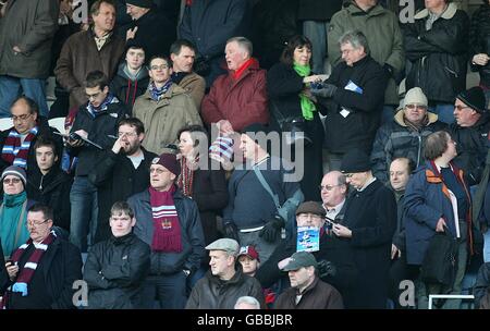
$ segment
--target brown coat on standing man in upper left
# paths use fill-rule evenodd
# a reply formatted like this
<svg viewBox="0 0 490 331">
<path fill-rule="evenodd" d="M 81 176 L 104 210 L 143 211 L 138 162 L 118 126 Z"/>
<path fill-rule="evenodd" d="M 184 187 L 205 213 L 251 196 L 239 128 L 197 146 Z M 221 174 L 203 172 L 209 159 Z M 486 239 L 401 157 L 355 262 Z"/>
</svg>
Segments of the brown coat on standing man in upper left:
<svg viewBox="0 0 490 331">
<path fill-rule="evenodd" d="M 70 110 L 87 103 L 84 82 L 91 71 L 101 71 L 108 82 L 118 71 L 124 52 L 125 39 L 112 34 L 97 50 L 91 28 L 72 35 L 61 49 L 54 74 L 60 85 L 70 93 Z"/>
</svg>

